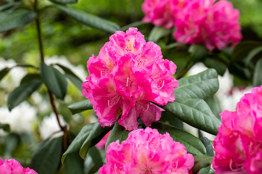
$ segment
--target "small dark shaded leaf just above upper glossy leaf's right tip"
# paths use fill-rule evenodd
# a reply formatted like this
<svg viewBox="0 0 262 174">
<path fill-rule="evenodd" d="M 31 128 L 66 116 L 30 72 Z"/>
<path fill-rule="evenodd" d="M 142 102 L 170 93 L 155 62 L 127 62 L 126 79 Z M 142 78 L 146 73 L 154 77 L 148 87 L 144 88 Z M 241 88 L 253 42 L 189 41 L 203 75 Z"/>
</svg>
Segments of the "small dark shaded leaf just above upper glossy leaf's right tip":
<svg viewBox="0 0 262 174">
<path fill-rule="evenodd" d="M 220 61 L 216 59 L 211 59 L 209 57 L 207 57 L 203 61 L 203 63 L 208 68 L 214 68 L 220 76 L 224 75 L 226 68 L 227 68 L 227 66 L 224 63 L 221 63 Z"/>
</svg>

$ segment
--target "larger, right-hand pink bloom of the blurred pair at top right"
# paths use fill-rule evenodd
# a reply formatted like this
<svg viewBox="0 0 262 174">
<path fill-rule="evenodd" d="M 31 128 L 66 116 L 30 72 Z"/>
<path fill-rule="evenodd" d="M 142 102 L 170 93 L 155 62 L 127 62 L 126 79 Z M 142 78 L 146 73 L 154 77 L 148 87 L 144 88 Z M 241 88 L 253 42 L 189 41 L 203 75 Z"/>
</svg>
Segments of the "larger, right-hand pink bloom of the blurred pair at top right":
<svg viewBox="0 0 262 174">
<path fill-rule="evenodd" d="M 192 0 L 177 15 L 174 37 L 178 42 L 204 44 L 207 49 L 232 47 L 241 39 L 239 11 L 231 2 Z M 214 4 L 213 4 L 214 3 Z"/>
</svg>

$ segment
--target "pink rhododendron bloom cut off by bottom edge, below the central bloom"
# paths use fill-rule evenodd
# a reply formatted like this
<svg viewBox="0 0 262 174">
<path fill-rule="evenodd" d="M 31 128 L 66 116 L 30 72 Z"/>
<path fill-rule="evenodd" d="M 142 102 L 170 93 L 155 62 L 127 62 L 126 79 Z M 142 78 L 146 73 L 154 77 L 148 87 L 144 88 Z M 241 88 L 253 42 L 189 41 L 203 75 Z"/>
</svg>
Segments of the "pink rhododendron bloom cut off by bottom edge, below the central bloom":
<svg viewBox="0 0 262 174">
<path fill-rule="evenodd" d="M 173 141 L 168 133 L 162 135 L 147 127 L 129 133 L 107 147 L 106 161 L 100 174 L 118 173 L 189 173 L 194 165 L 192 154 L 185 146 Z"/>
</svg>

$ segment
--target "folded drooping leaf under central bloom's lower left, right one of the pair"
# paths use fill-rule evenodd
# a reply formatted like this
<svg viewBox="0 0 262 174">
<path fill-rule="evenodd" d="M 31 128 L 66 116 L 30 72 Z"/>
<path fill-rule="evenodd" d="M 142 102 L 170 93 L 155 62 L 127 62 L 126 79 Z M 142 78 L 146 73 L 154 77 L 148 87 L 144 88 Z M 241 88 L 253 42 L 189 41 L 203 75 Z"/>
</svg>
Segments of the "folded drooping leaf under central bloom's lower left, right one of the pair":
<svg viewBox="0 0 262 174">
<path fill-rule="evenodd" d="M 96 122 L 94 127 L 90 131 L 90 134 L 81 146 L 81 149 L 79 151 L 80 156 L 85 159 L 89 148 L 97 144 L 112 128 L 113 125 L 111 127 L 103 128 L 99 123 Z"/>
</svg>

